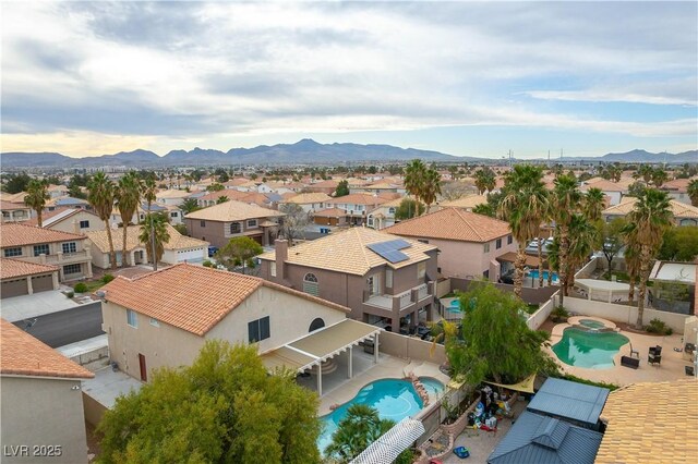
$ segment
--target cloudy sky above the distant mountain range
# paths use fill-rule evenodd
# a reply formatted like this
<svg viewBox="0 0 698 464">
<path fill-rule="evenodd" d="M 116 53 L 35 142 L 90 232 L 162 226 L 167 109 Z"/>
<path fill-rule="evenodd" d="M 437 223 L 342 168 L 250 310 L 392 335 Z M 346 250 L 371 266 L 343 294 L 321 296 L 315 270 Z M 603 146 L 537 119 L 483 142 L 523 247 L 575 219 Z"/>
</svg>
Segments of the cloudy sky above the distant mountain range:
<svg viewBox="0 0 698 464">
<path fill-rule="evenodd" d="M 2 2 L 2 150 L 696 149 L 697 5 Z"/>
</svg>

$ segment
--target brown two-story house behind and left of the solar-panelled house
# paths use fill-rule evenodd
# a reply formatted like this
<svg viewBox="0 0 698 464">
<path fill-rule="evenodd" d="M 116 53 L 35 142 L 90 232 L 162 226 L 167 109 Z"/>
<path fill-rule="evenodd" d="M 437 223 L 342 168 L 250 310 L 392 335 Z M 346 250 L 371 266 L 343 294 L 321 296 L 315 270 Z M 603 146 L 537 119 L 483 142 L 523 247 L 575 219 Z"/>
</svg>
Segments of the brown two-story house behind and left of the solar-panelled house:
<svg viewBox="0 0 698 464">
<path fill-rule="evenodd" d="M 236 236 L 249 236 L 261 245 L 270 245 L 284 216 L 257 205 L 229 200 L 190 212 L 184 217 L 184 223 L 191 236 L 217 247 L 225 246 Z"/>
</svg>

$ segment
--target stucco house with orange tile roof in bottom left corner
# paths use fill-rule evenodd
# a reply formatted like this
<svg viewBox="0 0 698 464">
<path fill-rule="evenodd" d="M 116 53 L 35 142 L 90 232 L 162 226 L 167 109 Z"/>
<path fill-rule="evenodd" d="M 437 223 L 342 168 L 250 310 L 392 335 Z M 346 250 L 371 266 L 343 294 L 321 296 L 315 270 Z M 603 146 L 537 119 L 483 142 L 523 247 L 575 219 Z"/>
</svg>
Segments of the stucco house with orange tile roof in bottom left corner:
<svg viewBox="0 0 698 464">
<path fill-rule="evenodd" d="M 0 326 L 2 462 L 87 463 L 81 384 L 95 375 L 7 320 Z"/>
</svg>

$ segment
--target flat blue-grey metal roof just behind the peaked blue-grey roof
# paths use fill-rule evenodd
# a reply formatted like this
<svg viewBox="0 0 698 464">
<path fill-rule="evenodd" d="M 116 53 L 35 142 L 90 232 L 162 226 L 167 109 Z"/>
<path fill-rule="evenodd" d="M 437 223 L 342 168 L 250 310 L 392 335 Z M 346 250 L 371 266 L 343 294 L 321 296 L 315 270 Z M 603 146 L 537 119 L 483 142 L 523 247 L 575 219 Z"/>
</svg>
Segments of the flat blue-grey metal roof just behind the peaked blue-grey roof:
<svg viewBox="0 0 698 464">
<path fill-rule="evenodd" d="M 611 390 L 568 380 L 545 380 L 527 410 L 561 417 L 582 427 L 595 427 Z"/>
</svg>

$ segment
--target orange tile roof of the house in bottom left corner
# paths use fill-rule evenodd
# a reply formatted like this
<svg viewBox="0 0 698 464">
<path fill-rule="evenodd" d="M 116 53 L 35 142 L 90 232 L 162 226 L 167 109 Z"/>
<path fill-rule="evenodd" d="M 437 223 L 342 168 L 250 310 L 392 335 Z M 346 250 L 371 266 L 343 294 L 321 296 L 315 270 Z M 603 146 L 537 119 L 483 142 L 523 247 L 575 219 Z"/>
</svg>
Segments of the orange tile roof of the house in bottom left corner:
<svg viewBox="0 0 698 464">
<path fill-rule="evenodd" d="M 45 345 L 24 330 L 0 319 L 0 374 L 92 379 L 93 373 Z"/>
</svg>

